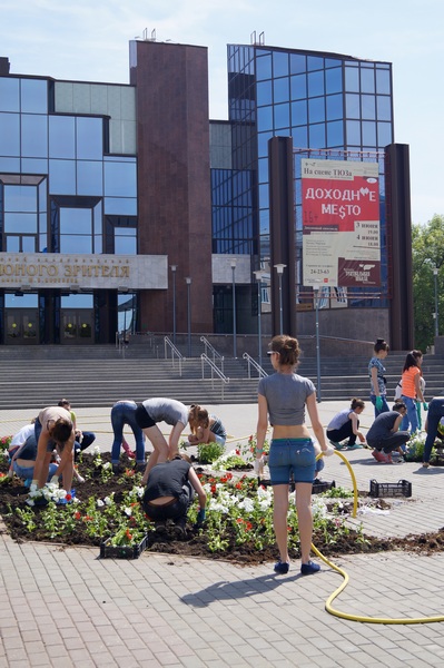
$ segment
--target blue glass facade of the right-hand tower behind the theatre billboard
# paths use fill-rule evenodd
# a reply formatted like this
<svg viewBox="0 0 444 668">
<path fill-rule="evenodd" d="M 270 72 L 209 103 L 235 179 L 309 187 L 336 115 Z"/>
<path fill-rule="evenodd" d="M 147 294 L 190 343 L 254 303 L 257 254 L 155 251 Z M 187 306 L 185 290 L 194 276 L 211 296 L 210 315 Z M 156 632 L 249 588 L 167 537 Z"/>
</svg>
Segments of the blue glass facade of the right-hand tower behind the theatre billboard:
<svg viewBox="0 0 444 668">
<path fill-rule="evenodd" d="M 228 96 L 233 165 L 257 175 L 253 186 L 253 219 L 258 220 L 259 257 L 256 266 L 267 266 L 269 261 L 268 140 L 272 137 L 293 138 L 299 261 L 298 158 L 305 157 L 308 149 L 324 150 L 326 159 L 346 160 L 354 156 L 352 159 L 364 160 L 371 159 L 365 154 L 372 154 L 372 159 L 379 164 L 382 203 L 383 287 L 375 292 L 387 294 L 384 161 L 378 156 L 386 145 L 394 141 L 391 63 L 351 59 L 336 53 L 230 45 Z M 359 305 L 361 301 L 356 298 L 352 304 Z M 365 306 L 373 304 L 386 305 L 381 299 L 363 303 Z"/>
</svg>

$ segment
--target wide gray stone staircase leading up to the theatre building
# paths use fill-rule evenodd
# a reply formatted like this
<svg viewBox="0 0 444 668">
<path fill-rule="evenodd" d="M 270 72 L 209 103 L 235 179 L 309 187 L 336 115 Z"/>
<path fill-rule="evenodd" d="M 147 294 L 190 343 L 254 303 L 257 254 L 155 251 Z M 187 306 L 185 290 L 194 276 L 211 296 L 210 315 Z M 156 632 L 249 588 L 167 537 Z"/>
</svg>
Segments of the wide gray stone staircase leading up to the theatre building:
<svg viewBox="0 0 444 668">
<path fill-rule="evenodd" d="M 164 357 L 164 346 L 135 345 L 119 351 L 112 345 L 97 346 L 0 346 L 0 410 L 39 409 L 56 403 L 62 396 L 73 406 L 110 406 L 121 399 L 144 401 L 149 396 L 171 396 L 184 403 L 254 403 L 257 401 L 258 374 L 244 358 L 226 357 L 224 383 L 204 365 L 203 344 L 193 345 L 190 358 Z M 388 399 L 393 400 L 401 377 L 404 353 L 393 353 L 385 360 Z M 220 369 L 221 362 L 217 361 Z M 268 357 L 264 369 L 273 373 Z M 368 357 L 320 358 L 320 399 L 349 401 L 353 396 L 368 399 Z M 204 371 L 204 377 L 203 377 Z M 426 399 L 443 393 L 444 357 L 425 355 L 423 372 Z M 317 385 L 317 362 L 303 357 L 298 373 Z M 317 392 L 319 396 L 319 389 Z"/>
</svg>

